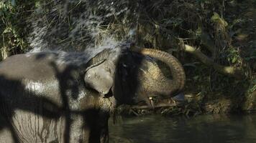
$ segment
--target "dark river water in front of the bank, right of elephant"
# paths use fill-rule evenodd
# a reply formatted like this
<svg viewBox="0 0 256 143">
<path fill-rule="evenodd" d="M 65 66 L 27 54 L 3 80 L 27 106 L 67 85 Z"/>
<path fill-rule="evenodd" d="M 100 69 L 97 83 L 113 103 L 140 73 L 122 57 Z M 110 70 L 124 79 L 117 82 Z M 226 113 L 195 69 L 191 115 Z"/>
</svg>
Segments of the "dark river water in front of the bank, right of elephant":
<svg viewBox="0 0 256 143">
<path fill-rule="evenodd" d="M 256 115 L 123 117 L 109 132 L 110 143 L 256 143 Z"/>
</svg>

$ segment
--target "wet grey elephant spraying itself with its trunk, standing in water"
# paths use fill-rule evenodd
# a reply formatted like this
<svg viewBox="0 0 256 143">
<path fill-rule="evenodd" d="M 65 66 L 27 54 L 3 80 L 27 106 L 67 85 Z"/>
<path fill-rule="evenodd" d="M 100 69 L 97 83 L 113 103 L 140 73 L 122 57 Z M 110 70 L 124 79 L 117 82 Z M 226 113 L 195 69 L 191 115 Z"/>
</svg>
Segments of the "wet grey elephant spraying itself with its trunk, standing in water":
<svg viewBox="0 0 256 143">
<path fill-rule="evenodd" d="M 165 77 L 155 60 L 170 68 Z M 174 56 L 119 45 L 91 56 L 44 51 L 0 63 L 0 142 L 109 142 L 108 120 L 121 104 L 170 98 L 185 84 Z"/>
</svg>

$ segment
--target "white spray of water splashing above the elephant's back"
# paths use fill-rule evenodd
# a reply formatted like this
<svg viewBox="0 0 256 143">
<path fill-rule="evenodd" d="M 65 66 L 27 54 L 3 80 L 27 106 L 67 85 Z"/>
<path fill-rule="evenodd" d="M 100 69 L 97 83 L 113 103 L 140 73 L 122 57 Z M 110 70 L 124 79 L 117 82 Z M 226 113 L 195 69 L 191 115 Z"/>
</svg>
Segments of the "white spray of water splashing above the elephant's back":
<svg viewBox="0 0 256 143">
<path fill-rule="evenodd" d="M 116 16 L 130 14 L 129 1 L 65 0 L 40 4 L 35 16 L 29 20 L 30 52 L 37 51 L 85 51 L 95 55 L 104 49 L 114 49 L 123 41 L 134 39 L 134 27 L 130 26 L 122 38 L 111 28 Z M 114 24 L 114 23 L 113 23 Z M 119 32 L 120 35 L 120 32 Z"/>
</svg>

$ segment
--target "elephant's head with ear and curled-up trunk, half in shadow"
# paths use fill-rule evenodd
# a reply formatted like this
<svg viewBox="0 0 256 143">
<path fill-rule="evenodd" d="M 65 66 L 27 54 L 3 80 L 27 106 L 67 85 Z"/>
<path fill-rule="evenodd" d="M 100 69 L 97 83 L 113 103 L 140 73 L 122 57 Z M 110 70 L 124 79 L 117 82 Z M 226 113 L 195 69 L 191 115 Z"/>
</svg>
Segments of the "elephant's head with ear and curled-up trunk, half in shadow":
<svg viewBox="0 0 256 143">
<path fill-rule="evenodd" d="M 155 59 L 170 68 L 165 77 Z M 118 104 L 151 102 L 156 96 L 173 97 L 185 84 L 183 66 L 174 56 L 157 49 L 106 49 L 88 62 L 85 82 L 104 95 L 114 95 Z"/>
</svg>

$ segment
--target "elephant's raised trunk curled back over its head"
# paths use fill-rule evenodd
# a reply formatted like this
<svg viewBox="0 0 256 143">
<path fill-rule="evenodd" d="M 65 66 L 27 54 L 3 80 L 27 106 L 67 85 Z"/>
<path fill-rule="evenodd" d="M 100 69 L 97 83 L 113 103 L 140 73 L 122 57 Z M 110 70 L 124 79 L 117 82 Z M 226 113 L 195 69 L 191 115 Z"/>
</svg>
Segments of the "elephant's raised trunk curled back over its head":
<svg viewBox="0 0 256 143">
<path fill-rule="evenodd" d="M 174 56 L 157 49 L 139 49 L 137 47 L 132 47 L 132 51 L 163 61 L 170 68 L 173 79 L 165 77 L 162 72 L 153 73 L 157 74 L 152 76 L 157 77 L 155 78 L 155 82 L 157 83 L 152 83 L 150 87 L 147 87 L 146 85 L 146 89 L 151 89 L 152 93 L 163 94 L 166 96 L 170 96 L 170 94 L 173 94 L 174 92 L 180 92 L 180 90 L 183 89 L 186 75 L 183 66 Z"/>
</svg>

